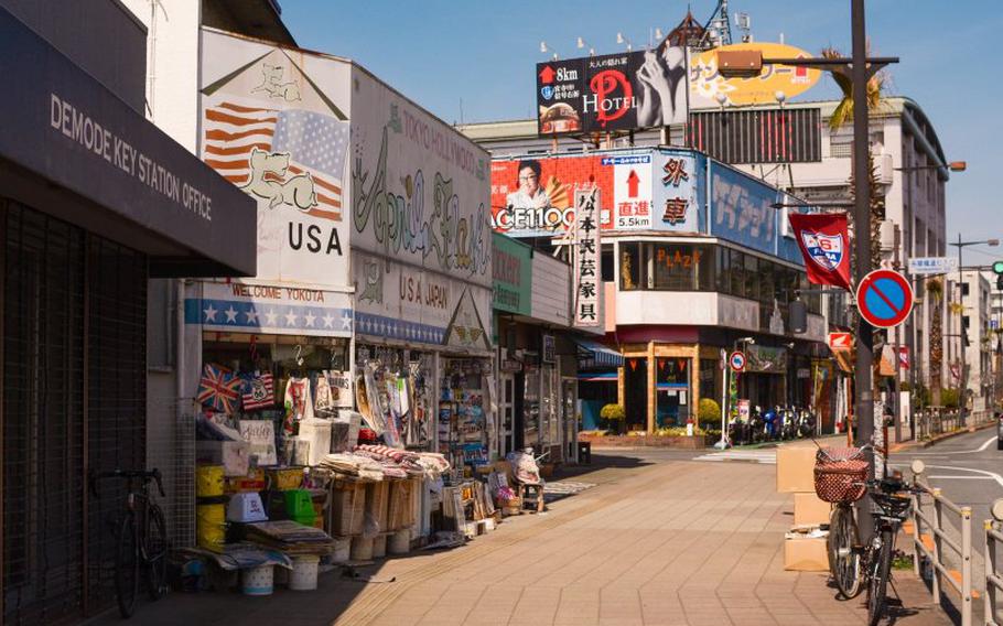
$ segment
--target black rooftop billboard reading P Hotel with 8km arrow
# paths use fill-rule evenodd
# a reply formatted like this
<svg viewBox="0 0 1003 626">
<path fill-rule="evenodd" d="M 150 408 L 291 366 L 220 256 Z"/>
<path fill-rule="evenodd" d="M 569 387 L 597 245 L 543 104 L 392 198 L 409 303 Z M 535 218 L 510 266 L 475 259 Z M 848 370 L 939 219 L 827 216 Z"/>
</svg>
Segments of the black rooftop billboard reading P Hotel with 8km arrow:
<svg viewBox="0 0 1003 626">
<path fill-rule="evenodd" d="M 687 118 L 686 48 L 623 52 L 537 64 L 540 136 L 627 131 Z"/>
</svg>

